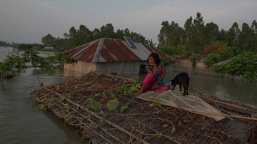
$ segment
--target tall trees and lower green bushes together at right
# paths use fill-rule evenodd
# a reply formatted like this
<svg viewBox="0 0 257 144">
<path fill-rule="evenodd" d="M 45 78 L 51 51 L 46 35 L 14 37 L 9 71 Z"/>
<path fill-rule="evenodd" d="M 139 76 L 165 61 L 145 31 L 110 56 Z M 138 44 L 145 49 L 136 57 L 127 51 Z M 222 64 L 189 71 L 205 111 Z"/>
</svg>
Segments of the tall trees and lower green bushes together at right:
<svg viewBox="0 0 257 144">
<path fill-rule="evenodd" d="M 158 34 L 158 49 L 169 55 L 190 56 L 194 64 L 200 59 L 206 68 L 213 68 L 222 76 L 241 76 L 243 81 L 257 81 L 257 22 L 235 22 L 228 31 L 218 29 L 213 22 L 204 24 L 203 16 L 196 14 L 186 20 L 183 28 L 176 22 L 162 22 Z"/>
</svg>

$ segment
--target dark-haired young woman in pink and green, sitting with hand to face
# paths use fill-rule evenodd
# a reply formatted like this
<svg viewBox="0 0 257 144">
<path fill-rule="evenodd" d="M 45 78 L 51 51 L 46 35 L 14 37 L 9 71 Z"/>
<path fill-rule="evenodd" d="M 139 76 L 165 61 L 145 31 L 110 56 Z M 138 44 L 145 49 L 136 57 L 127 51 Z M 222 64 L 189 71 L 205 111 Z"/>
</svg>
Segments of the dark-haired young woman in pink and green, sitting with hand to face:
<svg viewBox="0 0 257 144">
<path fill-rule="evenodd" d="M 163 79 L 165 76 L 165 66 L 157 53 L 151 53 L 148 56 L 146 70 L 148 74 L 143 80 L 141 89 L 133 96 L 138 96 L 139 94 L 146 92 L 149 87 L 154 91 L 166 91 L 169 89 L 168 83 Z"/>
</svg>

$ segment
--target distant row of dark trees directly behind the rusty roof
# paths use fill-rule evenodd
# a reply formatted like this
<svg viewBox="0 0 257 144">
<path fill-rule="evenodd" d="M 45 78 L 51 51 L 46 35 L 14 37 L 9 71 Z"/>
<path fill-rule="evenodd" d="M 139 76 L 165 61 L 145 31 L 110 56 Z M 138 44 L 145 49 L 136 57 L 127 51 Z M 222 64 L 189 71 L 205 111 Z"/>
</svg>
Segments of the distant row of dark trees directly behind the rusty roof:
<svg viewBox="0 0 257 144">
<path fill-rule="evenodd" d="M 133 41 L 139 43 L 148 43 L 153 46 L 152 40 L 146 40 L 146 38 L 141 34 L 129 31 L 129 29 L 118 29 L 115 32 L 114 26 L 112 26 L 112 24 L 106 24 L 105 26 L 101 26 L 101 29 L 94 29 L 94 31 L 90 31 L 82 24 L 79 26 L 79 29 L 75 29 L 75 27 L 72 26 L 69 29 L 69 34 L 64 33 L 64 38 L 55 38 L 54 36 L 51 36 L 51 34 L 48 34 L 42 37 L 41 43 L 43 43 L 45 46 L 54 46 L 55 48 L 61 50 L 60 48 L 75 48 L 76 46 L 81 46 L 99 38 L 123 39 L 124 36 L 131 37 Z"/>
</svg>

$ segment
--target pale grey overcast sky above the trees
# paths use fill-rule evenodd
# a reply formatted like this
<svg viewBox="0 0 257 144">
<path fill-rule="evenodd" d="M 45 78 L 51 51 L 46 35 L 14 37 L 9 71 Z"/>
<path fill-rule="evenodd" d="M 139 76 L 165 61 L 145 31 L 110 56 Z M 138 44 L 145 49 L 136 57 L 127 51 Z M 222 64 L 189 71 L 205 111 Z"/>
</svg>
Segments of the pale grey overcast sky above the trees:
<svg viewBox="0 0 257 144">
<path fill-rule="evenodd" d="M 183 27 L 190 16 L 203 16 L 228 30 L 234 22 L 251 26 L 257 20 L 257 0 L 1 0 L 0 41 L 41 43 L 42 36 L 63 38 L 71 26 L 89 30 L 112 24 L 158 42 L 162 21 Z"/>
</svg>

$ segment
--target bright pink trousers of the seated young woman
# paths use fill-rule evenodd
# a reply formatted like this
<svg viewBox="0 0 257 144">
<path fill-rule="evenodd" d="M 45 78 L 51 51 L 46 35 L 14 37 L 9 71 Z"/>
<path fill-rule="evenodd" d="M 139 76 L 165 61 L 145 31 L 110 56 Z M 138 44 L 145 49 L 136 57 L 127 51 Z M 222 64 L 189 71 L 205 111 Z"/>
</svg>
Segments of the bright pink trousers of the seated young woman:
<svg viewBox="0 0 257 144">
<path fill-rule="evenodd" d="M 152 73 L 148 73 L 146 78 L 143 80 L 142 88 L 143 91 L 146 91 L 148 86 L 152 86 L 154 83 L 156 83 L 156 78 L 154 78 Z M 160 86 L 160 88 L 156 88 L 154 91 L 167 91 L 168 86 Z"/>
</svg>

